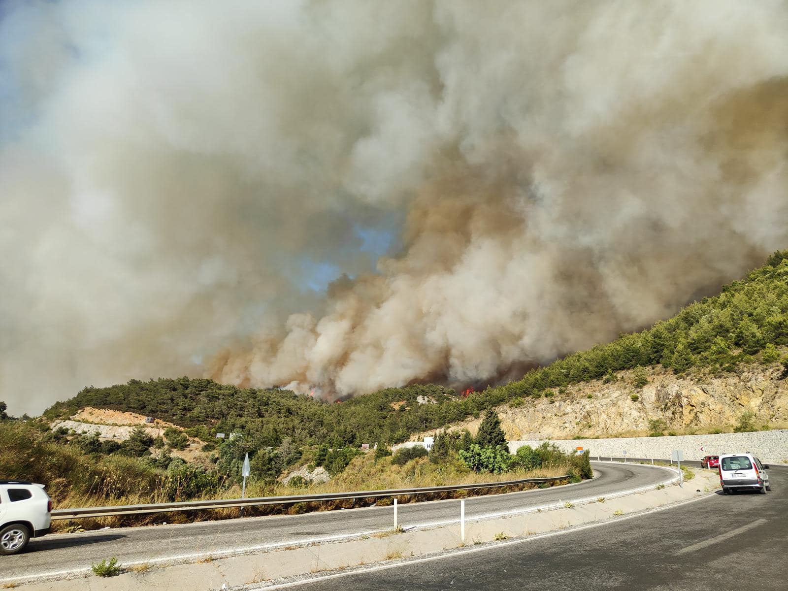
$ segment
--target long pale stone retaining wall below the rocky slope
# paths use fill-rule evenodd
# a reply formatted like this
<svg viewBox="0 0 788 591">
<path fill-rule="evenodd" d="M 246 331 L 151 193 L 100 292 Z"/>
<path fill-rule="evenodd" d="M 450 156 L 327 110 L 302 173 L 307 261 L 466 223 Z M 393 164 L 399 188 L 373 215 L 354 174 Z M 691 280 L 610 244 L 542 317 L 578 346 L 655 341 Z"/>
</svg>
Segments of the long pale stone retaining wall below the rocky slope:
<svg viewBox="0 0 788 591">
<path fill-rule="evenodd" d="M 509 451 L 544 441 L 510 441 Z M 601 456 L 621 458 L 668 459 L 674 449 L 684 452 L 684 459 L 703 459 L 704 455 L 751 452 L 762 462 L 788 463 L 788 429 L 756 431 L 753 433 L 719 433 L 717 435 L 676 435 L 673 437 L 621 437 L 617 439 L 560 439 L 551 440 L 564 452 L 576 448 L 587 449 L 591 459 Z M 701 450 L 701 448 L 703 448 Z"/>
</svg>

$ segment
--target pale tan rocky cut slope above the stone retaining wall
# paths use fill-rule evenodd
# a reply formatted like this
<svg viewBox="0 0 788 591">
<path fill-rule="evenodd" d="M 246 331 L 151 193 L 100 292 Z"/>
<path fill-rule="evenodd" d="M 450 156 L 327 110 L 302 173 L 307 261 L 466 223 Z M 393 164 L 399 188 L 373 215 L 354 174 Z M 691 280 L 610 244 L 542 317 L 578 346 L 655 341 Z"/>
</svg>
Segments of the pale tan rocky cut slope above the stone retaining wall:
<svg viewBox="0 0 788 591">
<path fill-rule="evenodd" d="M 676 377 L 659 368 L 648 377 L 647 385 L 635 388 L 632 372 L 619 372 L 608 384 L 594 381 L 566 392 L 554 389 L 552 396 L 504 404 L 497 410 L 508 440 L 645 435 L 654 419 L 665 422 L 666 434 L 730 431 L 745 411 L 753 413 L 758 428 L 788 426 L 788 379 L 782 379 L 782 367 L 776 364 L 718 377 Z M 479 422 L 454 427 L 475 433 Z"/>
</svg>

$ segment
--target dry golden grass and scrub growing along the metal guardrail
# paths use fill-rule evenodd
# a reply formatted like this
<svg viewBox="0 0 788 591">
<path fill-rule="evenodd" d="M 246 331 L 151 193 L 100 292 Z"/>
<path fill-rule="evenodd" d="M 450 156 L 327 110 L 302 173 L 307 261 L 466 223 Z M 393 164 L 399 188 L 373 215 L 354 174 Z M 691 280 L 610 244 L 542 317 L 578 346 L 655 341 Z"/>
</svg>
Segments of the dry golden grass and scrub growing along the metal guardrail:
<svg viewBox="0 0 788 591">
<path fill-rule="evenodd" d="M 80 449 L 67 444 L 42 440 L 43 434 L 28 425 L 3 423 L 0 426 L 0 465 L 10 474 L 32 481 L 43 482 L 53 497 L 55 507 L 95 507 L 125 504 L 164 503 L 173 500 L 165 496 L 168 478 L 165 472 L 147 466 L 142 460 L 122 456 L 107 456 L 98 462 Z M 46 461 L 42 461 L 42 459 Z M 324 484 L 310 485 L 307 489 L 281 483 L 247 483 L 247 496 L 283 496 L 319 494 L 324 492 L 348 492 L 374 489 L 401 489 L 433 487 L 440 485 L 470 485 L 490 481 L 509 481 L 520 478 L 560 476 L 566 474 L 564 466 L 542 468 L 531 472 L 507 474 L 476 474 L 461 463 L 437 465 L 427 458 L 419 458 L 404 466 L 392 465 L 391 458 L 374 461 L 373 454 L 359 455 L 342 474 Z M 464 498 L 477 494 L 513 492 L 531 489 L 533 485 L 482 489 L 474 492 L 457 491 L 440 494 L 401 496 L 402 504 L 421 500 Z M 222 489 L 218 494 L 206 492 L 195 499 L 236 499 L 240 487 L 234 485 Z M 273 515 L 303 513 L 307 511 L 331 511 L 338 508 L 365 507 L 372 504 L 385 505 L 391 500 L 374 497 L 359 500 L 337 500 L 290 505 L 247 507 L 246 515 Z M 95 530 L 105 526 L 122 527 L 153 525 L 157 523 L 187 523 L 207 519 L 233 519 L 238 517 L 237 507 L 189 513 L 158 513 L 153 515 L 128 515 L 79 519 L 73 522 L 52 522 L 55 532 Z"/>
</svg>

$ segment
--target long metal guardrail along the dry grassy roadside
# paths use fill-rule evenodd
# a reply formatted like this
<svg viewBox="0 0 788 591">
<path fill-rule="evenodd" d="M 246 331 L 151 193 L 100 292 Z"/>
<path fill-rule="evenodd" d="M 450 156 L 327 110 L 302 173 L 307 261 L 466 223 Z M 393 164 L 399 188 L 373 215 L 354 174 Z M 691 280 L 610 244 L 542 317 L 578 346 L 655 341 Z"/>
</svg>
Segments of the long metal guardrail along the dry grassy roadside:
<svg viewBox="0 0 788 591">
<path fill-rule="evenodd" d="M 472 485 L 430 486 L 420 489 L 366 490 L 359 492 L 329 492 L 322 495 L 260 496 L 251 499 L 191 500 L 184 503 L 151 503 L 143 505 L 117 505 L 115 507 L 83 507 L 79 509 L 55 509 L 52 519 L 85 519 L 88 517 L 113 517 L 116 515 L 141 515 L 144 513 L 169 513 L 171 511 L 200 511 L 203 509 L 225 509 L 228 507 L 255 507 L 257 505 L 281 505 L 290 503 L 310 503 L 322 500 L 366 499 L 381 496 L 403 496 L 452 492 L 457 490 L 493 489 L 498 486 L 541 484 L 569 478 L 551 476 L 548 478 L 522 478 L 502 482 L 483 482 Z"/>
</svg>

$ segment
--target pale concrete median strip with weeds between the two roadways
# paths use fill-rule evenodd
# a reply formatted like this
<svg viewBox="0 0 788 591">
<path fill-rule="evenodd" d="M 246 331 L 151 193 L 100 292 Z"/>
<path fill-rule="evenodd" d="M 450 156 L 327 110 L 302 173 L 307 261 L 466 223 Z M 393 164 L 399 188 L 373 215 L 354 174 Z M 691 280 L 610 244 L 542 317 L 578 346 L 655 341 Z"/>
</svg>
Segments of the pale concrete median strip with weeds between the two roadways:
<svg viewBox="0 0 788 591">
<path fill-rule="evenodd" d="M 675 469 L 660 467 L 675 474 Z M 678 475 L 665 481 L 666 484 L 678 479 Z M 166 567 L 136 565 L 136 571 L 129 571 L 113 578 L 93 576 L 69 580 L 19 582 L 17 589 L 39 591 L 58 589 L 58 591 L 120 591 L 121 589 L 194 589 L 208 591 L 240 585 L 268 584 L 266 589 L 290 585 L 283 581 L 292 577 L 339 571 L 348 567 L 399 560 L 411 557 L 429 557 L 436 553 L 456 551 L 468 545 L 485 544 L 490 541 L 544 536 L 560 533 L 570 528 L 590 526 L 596 523 L 613 522 L 619 516 L 637 515 L 656 507 L 667 508 L 672 504 L 698 500 L 704 492 L 717 488 L 716 474 L 696 471 L 693 484 L 680 489 L 678 485 L 655 485 L 617 493 L 599 499 L 572 500 L 567 504 L 549 504 L 545 508 L 533 507 L 506 515 L 490 515 L 474 518 L 466 522 L 464 541 L 460 537 L 458 520 L 441 524 L 426 524 L 411 527 L 403 533 L 366 533 L 334 541 L 312 542 L 307 545 L 292 545 L 285 548 L 264 549 L 255 554 L 210 557 L 197 563 L 175 564 Z M 609 502 L 615 500 L 615 502 Z M 459 503 L 458 501 L 454 501 Z M 169 559 L 172 560 L 172 559 Z M 121 557 L 122 562 L 122 557 Z M 125 565 L 135 568 L 135 565 Z M 83 571 L 84 572 L 84 571 Z M 271 586 L 274 585 L 274 586 Z"/>
</svg>

